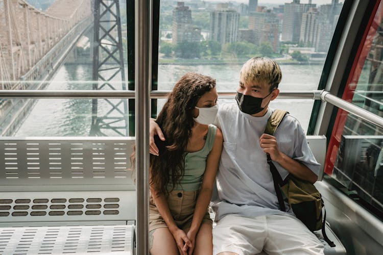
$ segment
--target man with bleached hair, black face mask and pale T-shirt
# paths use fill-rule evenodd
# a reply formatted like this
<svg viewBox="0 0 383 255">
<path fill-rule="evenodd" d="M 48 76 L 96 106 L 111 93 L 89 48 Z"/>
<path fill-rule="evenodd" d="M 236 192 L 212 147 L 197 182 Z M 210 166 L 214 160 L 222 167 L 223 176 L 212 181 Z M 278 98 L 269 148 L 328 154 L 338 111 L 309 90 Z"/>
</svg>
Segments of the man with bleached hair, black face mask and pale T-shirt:
<svg viewBox="0 0 383 255">
<path fill-rule="evenodd" d="M 269 58 L 248 60 L 240 72 L 236 104 L 222 104 L 217 126 L 224 137 L 217 194 L 213 254 L 323 254 L 323 245 L 307 227 L 288 212 L 279 210 L 273 178 L 267 163 L 270 154 L 282 179 L 289 173 L 315 183 L 320 164 L 309 149 L 304 131 L 287 114 L 274 136 L 264 134 L 272 114 L 270 101 L 281 81 L 278 64 Z M 151 136 L 163 135 L 154 121 Z M 156 146 L 151 141 L 151 151 Z"/>
</svg>

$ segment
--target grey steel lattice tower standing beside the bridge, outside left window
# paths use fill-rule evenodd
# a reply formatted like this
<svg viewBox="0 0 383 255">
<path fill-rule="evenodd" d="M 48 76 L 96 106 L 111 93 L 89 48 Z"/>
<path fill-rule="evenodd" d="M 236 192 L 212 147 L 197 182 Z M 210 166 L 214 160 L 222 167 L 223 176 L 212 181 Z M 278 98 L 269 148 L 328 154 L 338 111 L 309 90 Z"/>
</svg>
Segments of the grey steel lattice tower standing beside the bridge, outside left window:
<svg viewBox="0 0 383 255">
<path fill-rule="evenodd" d="M 94 1 L 93 90 L 126 90 L 118 0 Z M 101 107 L 100 107 L 101 106 Z M 92 136 L 127 136 L 126 99 L 92 99 Z"/>
</svg>

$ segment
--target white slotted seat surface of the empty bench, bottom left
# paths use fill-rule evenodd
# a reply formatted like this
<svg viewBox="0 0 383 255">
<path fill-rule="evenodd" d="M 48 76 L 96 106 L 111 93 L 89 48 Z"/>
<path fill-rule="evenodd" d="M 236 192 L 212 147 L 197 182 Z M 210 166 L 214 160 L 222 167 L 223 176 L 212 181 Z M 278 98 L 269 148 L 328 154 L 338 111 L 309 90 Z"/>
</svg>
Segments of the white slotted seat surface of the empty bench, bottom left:
<svg viewBox="0 0 383 255">
<path fill-rule="evenodd" d="M 0 254 L 131 254 L 132 225 L 0 228 Z"/>
</svg>

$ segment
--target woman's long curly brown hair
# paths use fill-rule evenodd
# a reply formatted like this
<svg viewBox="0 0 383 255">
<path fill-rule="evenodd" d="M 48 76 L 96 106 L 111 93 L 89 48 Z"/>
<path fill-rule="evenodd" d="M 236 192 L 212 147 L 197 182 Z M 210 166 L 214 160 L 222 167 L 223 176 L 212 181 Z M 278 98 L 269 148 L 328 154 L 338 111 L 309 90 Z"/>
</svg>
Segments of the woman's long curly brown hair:
<svg viewBox="0 0 383 255">
<path fill-rule="evenodd" d="M 216 80 L 213 78 L 189 72 L 183 75 L 167 96 L 156 120 L 166 140 L 162 142 L 155 139 L 160 153 L 159 156 L 150 155 L 150 185 L 158 192 L 167 193 L 168 184 L 172 184 L 173 190 L 182 178 L 184 153 L 194 125 L 192 111 L 200 97 L 214 87 Z"/>
</svg>

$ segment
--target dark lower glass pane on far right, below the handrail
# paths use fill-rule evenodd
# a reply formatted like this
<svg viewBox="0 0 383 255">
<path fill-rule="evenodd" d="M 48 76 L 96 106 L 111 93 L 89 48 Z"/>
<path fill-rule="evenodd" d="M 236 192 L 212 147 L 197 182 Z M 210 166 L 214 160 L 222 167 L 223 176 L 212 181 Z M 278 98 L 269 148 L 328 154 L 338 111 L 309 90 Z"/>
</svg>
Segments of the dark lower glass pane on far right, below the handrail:
<svg viewBox="0 0 383 255">
<path fill-rule="evenodd" d="M 383 211 L 383 130 L 347 115 L 331 177 Z"/>
</svg>

